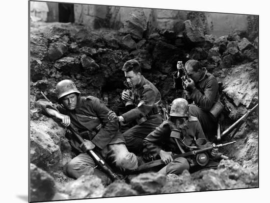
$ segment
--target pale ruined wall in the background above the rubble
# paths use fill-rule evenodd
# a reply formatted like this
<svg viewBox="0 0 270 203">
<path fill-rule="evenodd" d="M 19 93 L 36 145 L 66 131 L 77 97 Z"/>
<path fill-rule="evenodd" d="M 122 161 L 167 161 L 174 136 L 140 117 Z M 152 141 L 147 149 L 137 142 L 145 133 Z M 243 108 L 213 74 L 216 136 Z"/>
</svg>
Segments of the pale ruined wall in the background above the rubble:
<svg viewBox="0 0 270 203">
<path fill-rule="evenodd" d="M 40 6 L 38 4 L 40 4 Z M 58 3 L 47 2 L 47 5 L 49 8 L 47 18 L 45 16 L 46 11 L 40 11 L 44 9 L 39 9 L 44 8 L 44 2 L 31 2 L 31 15 L 36 15 L 47 22 L 58 21 Z M 33 6 L 38 9 L 33 9 Z M 183 22 L 188 20 L 187 17 L 190 16 L 190 11 L 74 4 L 75 23 L 85 25 L 88 29 L 100 27 L 119 29 L 122 27 L 123 23 L 129 19 L 130 13 L 136 9 L 143 10 L 152 28 L 157 27 L 161 30 L 173 30 L 176 33 L 184 30 Z M 203 13 L 203 16 L 206 18 L 203 23 L 206 26 L 207 33 L 216 35 L 217 37 L 227 35 L 235 29 L 247 30 L 248 28 L 248 15 Z"/>
</svg>

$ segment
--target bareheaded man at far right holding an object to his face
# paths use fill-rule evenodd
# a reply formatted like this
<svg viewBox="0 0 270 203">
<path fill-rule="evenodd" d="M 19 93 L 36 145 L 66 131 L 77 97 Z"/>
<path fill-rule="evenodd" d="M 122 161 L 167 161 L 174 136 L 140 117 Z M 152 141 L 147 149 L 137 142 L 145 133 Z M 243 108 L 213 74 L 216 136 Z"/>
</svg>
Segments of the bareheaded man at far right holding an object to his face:
<svg viewBox="0 0 270 203">
<path fill-rule="evenodd" d="M 180 66 L 178 63 L 178 70 L 181 69 Z M 219 101 L 216 77 L 208 73 L 197 60 L 188 60 L 185 68 L 190 82 L 187 79 L 182 80 L 182 75 L 177 73 L 174 75 L 174 84 L 176 87 L 182 85 L 189 91 L 190 98 L 195 102 L 195 105 L 189 104 L 190 115 L 198 118 L 205 135 L 211 139 L 216 135 L 217 117 L 223 109 Z M 219 107 L 218 111 L 215 110 L 216 106 Z"/>
</svg>

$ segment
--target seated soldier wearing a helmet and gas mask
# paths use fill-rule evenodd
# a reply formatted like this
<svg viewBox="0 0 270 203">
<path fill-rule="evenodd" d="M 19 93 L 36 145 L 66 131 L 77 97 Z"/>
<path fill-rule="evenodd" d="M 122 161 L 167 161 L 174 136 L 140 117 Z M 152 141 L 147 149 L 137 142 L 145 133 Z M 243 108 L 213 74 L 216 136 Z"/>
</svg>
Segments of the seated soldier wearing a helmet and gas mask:
<svg viewBox="0 0 270 203">
<path fill-rule="evenodd" d="M 154 159 L 162 159 L 166 164 L 159 173 L 181 174 L 189 170 L 191 160 L 179 157 L 172 158 L 172 153 L 189 152 L 195 146 L 196 139 L 206 139 L 200 122 L 196 117 L 190 116 L 187 100 L 178 98 L 172 101 L 170 117 L 143 140 L 147 152 Z M 217 155 L 218 150 L 213 149 L 210 156 Z"/>
</svg>

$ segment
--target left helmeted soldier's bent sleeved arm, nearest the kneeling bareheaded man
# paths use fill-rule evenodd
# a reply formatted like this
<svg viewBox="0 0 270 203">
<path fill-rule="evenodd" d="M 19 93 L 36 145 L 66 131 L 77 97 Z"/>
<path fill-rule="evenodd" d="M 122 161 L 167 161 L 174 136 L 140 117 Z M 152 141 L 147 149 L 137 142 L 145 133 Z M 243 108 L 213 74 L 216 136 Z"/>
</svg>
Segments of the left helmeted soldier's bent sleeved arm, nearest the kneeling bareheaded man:
<svg viewBox="0 0 270 203">
<path fill-rule="evenodd" d="M 94 110 L 97 117 L 101 120 L 103 127 L 91 140 L 97 147 L 104 149 L 118 131 L 118 122 L 116 120 L 108 120 L 108 107 L 99 99 L 94 98 L 91 105 L 94 105 Z"/>
</svg>

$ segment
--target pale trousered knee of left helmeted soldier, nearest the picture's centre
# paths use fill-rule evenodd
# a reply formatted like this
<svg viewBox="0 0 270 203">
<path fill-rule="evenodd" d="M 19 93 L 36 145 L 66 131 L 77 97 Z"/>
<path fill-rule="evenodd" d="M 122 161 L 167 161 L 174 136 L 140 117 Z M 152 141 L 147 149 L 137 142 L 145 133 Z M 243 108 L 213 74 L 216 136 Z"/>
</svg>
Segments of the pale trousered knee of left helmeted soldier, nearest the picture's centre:
<svg viewBox="0 0 270 203">
<path fill-rule="evenodd" d="M 129 152 L 125 144 L 108 145 L 110 158 L 113 159 L 115 165 L 122 170 L 134 170 L 138 167 L 137 156 Z"/>
</svg>

